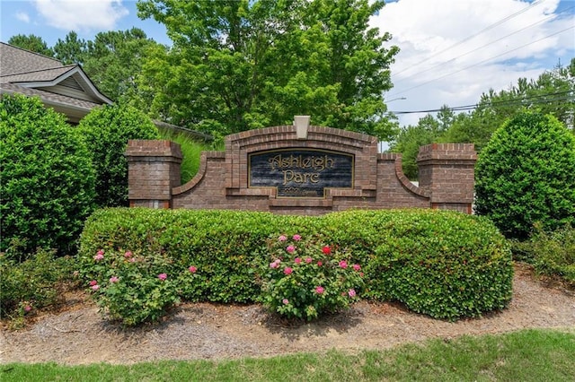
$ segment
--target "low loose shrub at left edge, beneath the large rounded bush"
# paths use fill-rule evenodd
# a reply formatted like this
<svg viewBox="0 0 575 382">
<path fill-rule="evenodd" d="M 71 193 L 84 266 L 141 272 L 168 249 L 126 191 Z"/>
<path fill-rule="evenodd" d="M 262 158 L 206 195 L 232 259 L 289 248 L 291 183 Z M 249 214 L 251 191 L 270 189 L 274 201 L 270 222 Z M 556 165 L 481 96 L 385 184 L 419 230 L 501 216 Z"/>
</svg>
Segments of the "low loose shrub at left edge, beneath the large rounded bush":
<svg viewBox="0 0 575 382">
<path fill-rule="evenodd" d="M 40 250 L 22 263 L 0 255 L 0 317 L 32 314 L 56 304 L 66 282 L 73 280 L 74 266 L 72 257 L 55 258 L 54 251 Z"/>
</svg>

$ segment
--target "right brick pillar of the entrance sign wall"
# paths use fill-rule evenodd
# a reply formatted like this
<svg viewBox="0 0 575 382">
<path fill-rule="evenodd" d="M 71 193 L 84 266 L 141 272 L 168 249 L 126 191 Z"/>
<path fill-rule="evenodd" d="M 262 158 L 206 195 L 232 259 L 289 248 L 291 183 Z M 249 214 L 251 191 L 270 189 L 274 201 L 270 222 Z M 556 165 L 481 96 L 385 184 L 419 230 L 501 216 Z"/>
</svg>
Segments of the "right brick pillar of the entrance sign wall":
<svg viewBox="0 0 575 382">
<path fill-rule="evenodd" d="M 472 213 L 473 143 L 432 143 L 420 147 L 420 188 L 429 192 L 430 207 Z"/>
</svg>

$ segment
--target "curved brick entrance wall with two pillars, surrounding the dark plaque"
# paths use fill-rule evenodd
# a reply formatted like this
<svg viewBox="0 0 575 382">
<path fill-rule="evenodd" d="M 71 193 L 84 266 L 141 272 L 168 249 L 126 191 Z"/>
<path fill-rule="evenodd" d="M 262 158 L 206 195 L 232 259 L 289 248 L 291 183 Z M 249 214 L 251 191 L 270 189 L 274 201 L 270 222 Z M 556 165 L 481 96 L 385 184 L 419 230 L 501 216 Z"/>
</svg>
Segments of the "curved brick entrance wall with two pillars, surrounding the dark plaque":
<svg viewBox="0 0 575 382">
<path fill-rule="evenodd" d="M 325 187 L 323 197 L 282 197 L 278 187 L 250 187 L 250 155 L 289 150 L 353 158 L 352 186 Z M 330 127 L 275 126 L 226 136 L 226 152 L 202 152 L 196 177 L 180 186 L 181 152 L 167 141 L 130 141 L 132 206 L 234 209 L 317 215 L 347 209 L 441 208 L 471 213 L 473 144 L 420 148 L 420 187 L 403 175 L 401 154 L 377 153 L 377 139 Z M 284 182 L 285 184 L 285 182 Z"/>
</svg>

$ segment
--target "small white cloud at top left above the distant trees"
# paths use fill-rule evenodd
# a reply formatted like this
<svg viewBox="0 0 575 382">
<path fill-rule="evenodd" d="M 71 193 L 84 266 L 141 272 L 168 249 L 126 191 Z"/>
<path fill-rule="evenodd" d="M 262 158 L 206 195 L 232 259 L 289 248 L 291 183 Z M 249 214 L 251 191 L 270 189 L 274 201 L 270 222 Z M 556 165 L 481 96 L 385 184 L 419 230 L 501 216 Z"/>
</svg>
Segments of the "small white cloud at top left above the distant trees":
<svg viewBox="0 0 575 382">
<path fill-rule="evenodd" d="M 46 22 L 60 30 L 113 30 L 128 15 L 121 0 L 35 0 Z"/>
</svg>

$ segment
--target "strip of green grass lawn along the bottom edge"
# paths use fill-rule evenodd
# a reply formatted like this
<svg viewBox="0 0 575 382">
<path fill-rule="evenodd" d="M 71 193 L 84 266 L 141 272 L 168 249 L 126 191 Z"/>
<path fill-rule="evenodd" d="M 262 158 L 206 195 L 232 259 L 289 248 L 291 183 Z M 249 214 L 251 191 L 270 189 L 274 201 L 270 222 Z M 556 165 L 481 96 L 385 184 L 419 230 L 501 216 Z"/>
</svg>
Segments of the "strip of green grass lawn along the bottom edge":
<svg viewBox="0 0 575 382">
<path fill-rule="evenodd" d="M 121 354 L 118 355 L 119 359 Z M 523 330 L 357 354 L 159 361 L 135 365 L 0 366 L 8 381 L 573 381 L 575 330 Z"/>
</svg>

